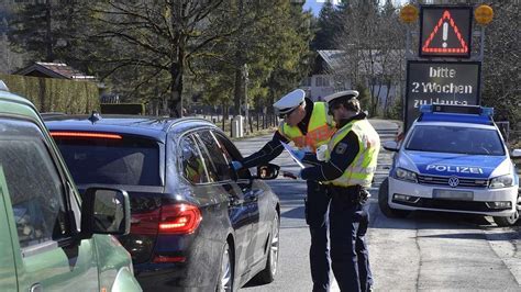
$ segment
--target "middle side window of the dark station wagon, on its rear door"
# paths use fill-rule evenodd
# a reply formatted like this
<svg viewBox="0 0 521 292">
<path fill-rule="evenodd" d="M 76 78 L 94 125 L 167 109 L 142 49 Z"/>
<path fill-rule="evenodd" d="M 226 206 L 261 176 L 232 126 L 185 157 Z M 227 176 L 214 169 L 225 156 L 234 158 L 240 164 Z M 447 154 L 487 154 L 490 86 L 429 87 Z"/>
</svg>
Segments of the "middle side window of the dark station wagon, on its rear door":
<svg viewBox="0 0 521 292">
<path fill-rule="evenodd" d="M 224 147 L 215 139 L 210 131 L 201 131 L 198 133 L 201 139 L 203 151 L 209 169 L 209 172 L 213 172 L 217 176 L 218 181 L 231 180 L 232 169 L 230 167 L 231 159 Z"/>
</svg>

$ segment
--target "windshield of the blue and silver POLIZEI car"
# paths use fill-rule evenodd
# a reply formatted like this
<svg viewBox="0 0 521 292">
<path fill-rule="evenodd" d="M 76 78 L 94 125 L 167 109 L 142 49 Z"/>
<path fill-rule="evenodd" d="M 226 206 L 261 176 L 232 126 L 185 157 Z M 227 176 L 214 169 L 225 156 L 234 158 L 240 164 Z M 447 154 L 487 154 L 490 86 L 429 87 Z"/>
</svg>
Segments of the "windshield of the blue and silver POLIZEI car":
<svg viewBox="0 0 521 292">
<path fill-rule="evenodd" d="M 495 130 L 417 125 L 406 144 L 407 150 L 469 155 L 505 155 Z"/>
</svg>

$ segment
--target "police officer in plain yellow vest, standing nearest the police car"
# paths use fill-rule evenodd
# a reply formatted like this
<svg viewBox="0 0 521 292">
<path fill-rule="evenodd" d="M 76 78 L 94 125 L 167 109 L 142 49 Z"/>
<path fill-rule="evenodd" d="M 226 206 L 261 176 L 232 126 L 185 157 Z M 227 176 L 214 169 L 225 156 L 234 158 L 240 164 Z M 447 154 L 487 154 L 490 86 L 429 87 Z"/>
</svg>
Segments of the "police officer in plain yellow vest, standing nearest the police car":
<svg viewBox="0 0 521 292">
<path fill-rule="evenodd" d="M 358 92 L 347 90 L 325 97 L 337 131 L 325 150 L 325 161 L 304 168 L 299 177 L 322 181 L 331 195 L 330 239 L 333 273 L 342 291 L 370 291 L 365 233 L 368 225 L 368 189 L 376 169 L 380 138 L 361 112 Z M 311 158 L 306 156 L 304 159 Z"/>
</svg>

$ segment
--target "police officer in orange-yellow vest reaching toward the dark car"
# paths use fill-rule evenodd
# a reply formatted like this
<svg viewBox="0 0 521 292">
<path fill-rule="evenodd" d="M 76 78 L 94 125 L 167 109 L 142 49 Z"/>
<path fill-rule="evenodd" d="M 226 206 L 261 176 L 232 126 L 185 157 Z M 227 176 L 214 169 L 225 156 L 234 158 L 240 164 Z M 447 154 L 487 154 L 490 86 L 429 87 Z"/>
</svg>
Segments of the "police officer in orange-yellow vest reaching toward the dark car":
<svg viewBox="0 0 521 292">
<path fill-rule="evenodd" d="M 280 142 L 293 142 L 299 149 L 302 149 L 295 153 L 300 158 L 304 156 L 303 149 L 314 151 L 329 142 L 335 128 L 332 116 L 328 115 L 326 103 L 312 102 L 304 97 L 306 92 L 297 89 L 274 104 L 284 122 L 279 124 L 271 141 L 260 150 L 242 161 L 233 161 L 235 169 L 251 168 L 275 159 L 284 150 Z M 326 291 L 330 285 L 326 214 L 331 199 L 324 195 L 324 186 L 314 180 L 308 180 L 307 184 L 306 222 L 311 233 L 309 255 L 313 291 Z"/>
</svg>

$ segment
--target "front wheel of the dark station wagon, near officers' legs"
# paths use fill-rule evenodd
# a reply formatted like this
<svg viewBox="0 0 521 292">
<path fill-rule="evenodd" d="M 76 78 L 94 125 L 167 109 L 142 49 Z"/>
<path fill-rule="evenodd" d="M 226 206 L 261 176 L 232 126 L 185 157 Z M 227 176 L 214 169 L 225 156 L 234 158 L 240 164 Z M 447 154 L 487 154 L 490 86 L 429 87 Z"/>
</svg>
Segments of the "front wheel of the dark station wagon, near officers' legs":
<svg viewBox="0 0 521 292">
<path fill-rule="evenodd" d="M 279 228 L 280 220 L 278 213 L 275 212 L 275 218 L 271 224 L 271 238 L 269 242 L 269 250 L 266 260 L 266 268 L 262 270 L 255 277 L 255 282 L 258 284 L 271 283 L 275 280 L 275 274 L 277 274 L 277 265 L 278 265 L 278 251 L 279 251 Z"/>
</svg>

